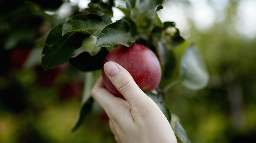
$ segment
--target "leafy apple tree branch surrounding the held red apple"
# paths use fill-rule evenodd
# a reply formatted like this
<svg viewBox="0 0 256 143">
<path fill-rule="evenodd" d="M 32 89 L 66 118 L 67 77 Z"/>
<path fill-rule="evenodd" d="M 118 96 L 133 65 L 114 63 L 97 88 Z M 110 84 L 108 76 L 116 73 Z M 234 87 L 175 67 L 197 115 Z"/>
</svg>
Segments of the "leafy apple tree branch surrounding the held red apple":
<svg viewBox="0 0 256 143">
<path fill-rule="evenodd" d="M 44 70 L 69 63 L 85 74 L 84 91 L 73 131 L 92 110 L 91 89 L 101 75 L 103 60 L 109 51 L 120 45 L 139 43 L 158 57 L 162 78 L 157 94 L 146 93 L 171 121 L 171 112 L 164 103 L 166 91 L 177 83 L 198 90 L 206 86 L 209 76 L 197 44 L 185 40 L 175 22 L 162 22 L 157 11 L 163 0 L 91 0 L 88 8 L 76 10 L 67 20 L 49 32 L 42 51 Z M 124 16 L 114 21 L 113 8 Z M 177 121 L 174 129 L 179 143 L 190 142 Z"/>
</svg>

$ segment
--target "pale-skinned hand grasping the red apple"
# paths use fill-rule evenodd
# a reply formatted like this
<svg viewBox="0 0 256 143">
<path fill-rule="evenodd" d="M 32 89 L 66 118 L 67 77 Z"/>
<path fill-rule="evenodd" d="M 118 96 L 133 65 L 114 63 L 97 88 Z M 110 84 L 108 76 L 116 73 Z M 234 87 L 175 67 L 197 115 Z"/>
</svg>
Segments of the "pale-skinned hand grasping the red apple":
<svg viewBox="0 0 256 143">
<path fill-rule="evenodd" d="M 125 99 L 108 92 L 102 77 L 92 96 L 107 113 L 117 143 L 177 143 L 169 121 L 128 71 L 115 62 L 107 62 L 104 71 Z"/>
</svg>

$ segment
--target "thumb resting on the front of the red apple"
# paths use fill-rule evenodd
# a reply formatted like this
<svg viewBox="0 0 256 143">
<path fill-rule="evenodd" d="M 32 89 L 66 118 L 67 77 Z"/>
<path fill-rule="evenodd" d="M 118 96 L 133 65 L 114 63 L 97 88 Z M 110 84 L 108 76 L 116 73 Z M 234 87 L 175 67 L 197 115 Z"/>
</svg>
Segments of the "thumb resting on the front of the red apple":
<svg viewBox="0 0 256 143">
<path fill-rule="evenodd" d="M 153 102 L 135 83 L 131 74 L 116 62 L 106 62 L 104 71 L 112 84 L 124 96 L 131 109 Z"/>
</svg>

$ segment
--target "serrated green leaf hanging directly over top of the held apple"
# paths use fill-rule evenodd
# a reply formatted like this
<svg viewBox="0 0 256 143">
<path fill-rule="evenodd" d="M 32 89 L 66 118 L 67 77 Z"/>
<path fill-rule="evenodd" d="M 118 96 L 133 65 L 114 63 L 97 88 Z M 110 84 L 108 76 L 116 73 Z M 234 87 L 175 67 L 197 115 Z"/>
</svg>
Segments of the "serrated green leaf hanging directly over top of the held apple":
<svg viewBox="0 0 256 143">
<path fill-rule="evenodd" d="M 98 35 L 96 46 L 109 47 L 122 44 L 127 47 L 135 42 L 136 25 L 128 17 L 107 25 Z"/>
</svg>

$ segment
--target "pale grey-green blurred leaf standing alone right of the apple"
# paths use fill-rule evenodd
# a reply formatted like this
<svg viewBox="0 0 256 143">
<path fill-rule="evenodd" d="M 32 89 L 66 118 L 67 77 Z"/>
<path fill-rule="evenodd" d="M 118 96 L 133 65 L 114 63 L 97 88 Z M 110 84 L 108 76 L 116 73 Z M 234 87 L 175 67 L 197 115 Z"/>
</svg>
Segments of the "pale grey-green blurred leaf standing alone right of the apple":
<svg viewBox="0 0 256 143">
<path fill-rule="evenodd" d="M 190 45 L 181 57 L 180 77 L 182 84 L 193 90 L 201 89 L 208 83 L 208 71 L 195 44 Z"/>
</svg>

